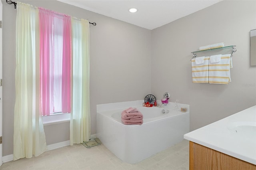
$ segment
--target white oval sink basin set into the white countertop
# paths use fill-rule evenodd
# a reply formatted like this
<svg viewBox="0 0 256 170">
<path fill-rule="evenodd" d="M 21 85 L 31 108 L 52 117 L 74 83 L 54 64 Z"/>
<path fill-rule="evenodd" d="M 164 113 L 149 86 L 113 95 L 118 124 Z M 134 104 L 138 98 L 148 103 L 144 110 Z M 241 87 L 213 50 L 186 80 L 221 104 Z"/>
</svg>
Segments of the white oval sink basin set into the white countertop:
<svg viewBox="0 0 256 170">
<path fill-rule="evenodd" d="M 228 125 L 228 129 L 239 135 L 256 136 L 256 122 L 233 122 Z"/>
</svg>

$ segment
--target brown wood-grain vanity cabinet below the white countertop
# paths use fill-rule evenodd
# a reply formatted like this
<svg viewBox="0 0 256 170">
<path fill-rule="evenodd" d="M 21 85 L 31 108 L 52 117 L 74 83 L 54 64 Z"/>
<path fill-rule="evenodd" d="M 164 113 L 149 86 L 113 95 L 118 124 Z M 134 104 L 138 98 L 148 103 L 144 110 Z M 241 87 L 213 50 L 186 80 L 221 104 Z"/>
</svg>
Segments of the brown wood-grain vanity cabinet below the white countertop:
<svg viewBox="0 0 256 170">
<path fill-rule="evenodd" d="M 256 165 L 190 141 L 190 170 L 256 170 Z M 239 147 L 239 146 L 238 146 Z"/>
</svg>

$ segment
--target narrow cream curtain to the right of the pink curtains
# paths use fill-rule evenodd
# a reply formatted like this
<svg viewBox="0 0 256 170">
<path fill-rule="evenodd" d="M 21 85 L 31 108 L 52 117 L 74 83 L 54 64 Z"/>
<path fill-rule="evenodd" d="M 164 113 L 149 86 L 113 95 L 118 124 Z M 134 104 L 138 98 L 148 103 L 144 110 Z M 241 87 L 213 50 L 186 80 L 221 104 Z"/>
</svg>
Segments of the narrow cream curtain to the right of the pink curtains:
<svg viewBox="0 0 256 170">
<path fill-rule="evenodd" d="M 70 145 L 90 138 L 89 22 L 72 18 L 72 108 Z"/>
</svg>

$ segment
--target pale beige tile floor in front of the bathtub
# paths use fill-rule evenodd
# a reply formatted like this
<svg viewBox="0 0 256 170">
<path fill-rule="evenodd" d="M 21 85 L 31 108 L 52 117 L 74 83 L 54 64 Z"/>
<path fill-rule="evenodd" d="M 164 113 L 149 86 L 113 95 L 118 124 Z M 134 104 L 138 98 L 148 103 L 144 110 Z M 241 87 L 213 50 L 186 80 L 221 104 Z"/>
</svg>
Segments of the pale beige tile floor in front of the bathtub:
<svg viewBox="0 0 256 170">
<path fill-rule="evenodd" d="M 163 150 L 136 164 L 117 158 L 103 144 L 87 149 L 82 144 L 46 151 L 40 156 L 2 164 L 0 170 L 188 170 L 189 142 Z"/>
</svg>

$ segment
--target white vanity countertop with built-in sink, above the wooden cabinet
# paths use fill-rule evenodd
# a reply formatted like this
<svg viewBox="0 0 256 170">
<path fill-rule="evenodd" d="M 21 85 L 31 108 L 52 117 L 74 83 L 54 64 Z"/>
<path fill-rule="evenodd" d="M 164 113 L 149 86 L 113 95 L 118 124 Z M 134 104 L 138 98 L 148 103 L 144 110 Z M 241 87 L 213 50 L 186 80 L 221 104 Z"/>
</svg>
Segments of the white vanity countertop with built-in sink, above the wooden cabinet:
<svg viewBox="0 0 256 170">
<path fill-rule="evenodd" d="M 184 138 L 256 165 L 256 105 L 184 134 Z"/>
</svg>

